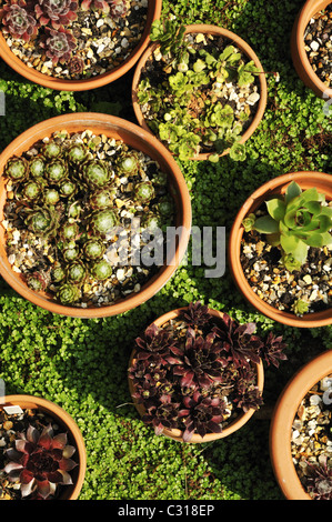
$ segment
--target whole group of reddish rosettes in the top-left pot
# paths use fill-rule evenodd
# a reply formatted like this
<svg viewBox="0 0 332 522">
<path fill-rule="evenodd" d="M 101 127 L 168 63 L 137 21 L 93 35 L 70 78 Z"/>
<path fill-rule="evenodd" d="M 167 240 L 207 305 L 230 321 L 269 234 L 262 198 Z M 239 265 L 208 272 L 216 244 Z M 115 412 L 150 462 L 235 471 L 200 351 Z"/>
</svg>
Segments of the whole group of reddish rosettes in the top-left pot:
<svg viewBox="0 0 332 522">
<path fill-rule="evenodd" d="M 128 12 L 128 0 L 6 0 L 0 9 L 1 29 L 24 42 L 38 38 L 40 48 L 53 64 L 66 63 L 74 58 L 77 49 L 71 23 L 80 11 L 89 9 L 119 19 Z M 74 71 L 79 60 L 76 57 Z"/>
</svg>

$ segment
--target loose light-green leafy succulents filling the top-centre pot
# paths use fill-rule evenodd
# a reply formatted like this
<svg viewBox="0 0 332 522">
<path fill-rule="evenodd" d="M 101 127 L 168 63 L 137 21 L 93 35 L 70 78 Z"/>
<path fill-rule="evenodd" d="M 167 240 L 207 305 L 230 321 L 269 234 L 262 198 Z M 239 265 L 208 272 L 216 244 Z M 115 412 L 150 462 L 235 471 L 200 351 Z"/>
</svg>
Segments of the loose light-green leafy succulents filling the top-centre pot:
<svg viewBox="0 0 332 522">
<path fill-rule="evenodd" d="M 159 47 L 138 88 L 145 122 L 181 160 L 205 152 L 218 161 L 230 149 L 242 161 L 240 140 L 260 99 L 260 71 L 230 41 L 184 29 L 171 19 L 152 23 L 150 38 Z"/>
</svg>

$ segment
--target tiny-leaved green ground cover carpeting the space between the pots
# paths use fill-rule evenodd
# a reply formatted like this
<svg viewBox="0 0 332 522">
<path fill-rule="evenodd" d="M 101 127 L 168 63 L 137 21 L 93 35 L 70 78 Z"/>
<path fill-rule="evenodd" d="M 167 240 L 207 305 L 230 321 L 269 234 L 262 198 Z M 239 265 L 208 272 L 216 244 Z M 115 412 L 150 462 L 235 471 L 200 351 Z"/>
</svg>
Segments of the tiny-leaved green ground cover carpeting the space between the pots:
<svg viewBox="0 0 332 522">
<path fill-rule="evenodd" d="M 194 225 L 224 225 L 229 233 L 241 204 L 269 179 L 298 170 L 331 172 L 331 116 L 298 78 L 290 57 L 290 33 L 302 4 L 303 0 L 163 1 L 163 12 L 185 23 L 218 24 L 241 36 L 268 71 L 268 107 L 248 142 L 247 160 L 180 163 Z M 3 61 L 0 78 L 7 101 L 0 150 L 32 124 L 67 112 L 109 112 L 135 122 L 132 71 L 82 93 L 32 84 Z M 192 300 L 224 310 L 240 322 L 253 320 L 259 332 L 273 328 L 284 335 L 289 360 L 265 370 L 268 405 L 304 362 L 332 349 L 331 327 L 301 330 L 274 323 L 249 307 L 228 269 L 222 278 L 209 280 L 204 267 L 192 267 L 190 257 L 153 299 L 109 319 L 53 315 L 1 282 L 0 378 L 8 394 L 44 396 L 79 424 L 88 452 L 81 500 L 282 500 L 269 460 L 269 419 L 254 416 L 224 440 L 184 445 L 155 436 L 131 403 L 127 367 L 135 337 L 158 315 Z"/>
</svg>

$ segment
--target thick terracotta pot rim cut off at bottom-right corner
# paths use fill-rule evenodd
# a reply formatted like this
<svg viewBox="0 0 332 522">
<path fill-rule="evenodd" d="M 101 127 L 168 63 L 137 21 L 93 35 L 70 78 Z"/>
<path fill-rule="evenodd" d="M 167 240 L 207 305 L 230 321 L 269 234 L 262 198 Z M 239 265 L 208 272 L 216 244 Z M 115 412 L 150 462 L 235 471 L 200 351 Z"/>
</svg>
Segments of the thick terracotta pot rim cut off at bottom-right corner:
<svg viewBox="0 0 332 522">
<path fill-rule="evenodd" d="M 291 431 L 302 399 L 316 382 L 330 373 L 331 350 L 302 367 L 285 385 L 274 406 L 270 426 L 270 456 L 279 486 L 288 500 L 311 500 L 292 461 Z"/>
</svg>

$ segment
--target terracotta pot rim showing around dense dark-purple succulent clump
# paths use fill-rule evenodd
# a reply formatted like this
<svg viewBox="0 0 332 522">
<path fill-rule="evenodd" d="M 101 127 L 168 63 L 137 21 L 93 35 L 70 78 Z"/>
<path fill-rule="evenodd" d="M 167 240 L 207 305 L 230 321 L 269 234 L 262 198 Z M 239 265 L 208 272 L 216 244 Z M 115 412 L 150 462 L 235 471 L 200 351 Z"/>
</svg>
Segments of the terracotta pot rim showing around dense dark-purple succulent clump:
<svg viewBox="0 0 332 522">
<path fill-rule="evenodd" d="M 165 322 L 178 318 L 181 314 L 182 310 L 185 310 L 185 309 L 187 309 L 187 307 L 179 308 L 177 310 L 172 310 L 171 312 L 164 313 L 163 315 L 158 318 L 155 321 L 153 321 L 153 323 L 157 324 L 157 327 L 161 327 Z M 212 309 L 209 309 L 209 312 L 210 312 L 211 315 L 213 315 L 213 318 L 215 318 L 217 321 L 218 321 L 218 319 L 222 318 L 222 315 L 223 315 L 222 312 L 219 312 L 219 311 L 212 310 Z M 132 362 L 134 361 L 134 355 L 135 355 L 135 349 L 131 353 L 129 368 L 131 367 Z M 260 392 L 262 393 L 263 392 L 263 387 L 264 387 L 264 370 L 263 370 L 262 361 L 260 361 L 259 364 L 254 364 L 254 367 L 255 367 L 256 373 L 258 373 L 258 387 L 259 387 Z M 132 380 L 128 379 L 128 382 L 129 382 L 130 393 L 132 394 L 133 391 L 134 391 Z M 135 405 L 139 414 L 142 416 L 145 413 L 144 406 L 142 404 L 138 404 L 134 399 L 133 399 L 133 401 L 134 401 L 134 405 Z M 192 435 L 192 439 L 191 439 L 190 443 L 203 443 L 203 442 L 215 441 L 218 439 L 223 439 L 224 436 L 228 436 L 231 433 L 233 433 L 234 431 L 242 428 L 249 421 L 249 419 L 254 414 L 254 412 L 255 412 L 254 409 L 250 409 L 250 410 L 248 410 L 248 412 L 239 415 L 238 419 L 235 419 L 233 422 L 231 422 L 228 426 L 223 428 L 221 433 L 207 433 L 204 436 L 201 436 L 198 433 L 194 433 Z M 169 439 L 173 439 L 174 441 L 183 442 L 182 431 L 181 430 L 164 429 L 162 431 L 162 434 L 164 436 L 168 436 Z"/>
</svg>

